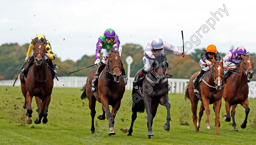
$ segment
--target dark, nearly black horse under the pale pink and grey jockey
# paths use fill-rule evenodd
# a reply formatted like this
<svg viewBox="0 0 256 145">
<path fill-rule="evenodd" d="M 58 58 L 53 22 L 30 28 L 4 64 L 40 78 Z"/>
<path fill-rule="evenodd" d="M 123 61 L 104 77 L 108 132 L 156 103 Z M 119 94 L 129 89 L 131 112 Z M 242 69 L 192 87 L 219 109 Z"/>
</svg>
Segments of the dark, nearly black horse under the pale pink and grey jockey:
<svg viewBox="0 0 256 145">
<path fill-rule="evenodd" d="M 132 90 L 132 122 L 130 129 L 128 130 L 128 136 L 132 136 L 133 132 L 133 123 L 137 118 L 137 112 L 147 112 L 148 120 L 148 138 L 151 139 L 151 136 L 154 136 L 152 132 L 153 119 L 156 115 L 157 107 L 159 104 L 163 105 L 167 109 L 167 118 L 164 125 L 164 130 L 170 130 L 170 103 L 168 97 L 168 79 L 167 79 L 167 67 L 168 62 L 166 60 L 166 53 L 164 55 L 153 53 L 155 60 L 151 65 L 150 70 L 148 71 L 145 79 L 143 80 L 142 92 L 140 93 L 138 88 L 133 87 Z M 135 75 L 135 79 L 140 74 L 140 69 Z M 134 79 L 134 81 L 135 81 Z M 143 100 L 143 101 L 142 101 Z"/>
</svg>

